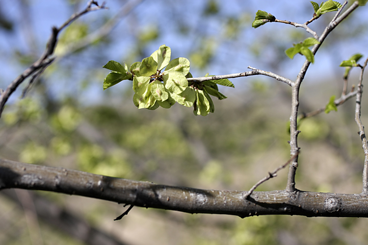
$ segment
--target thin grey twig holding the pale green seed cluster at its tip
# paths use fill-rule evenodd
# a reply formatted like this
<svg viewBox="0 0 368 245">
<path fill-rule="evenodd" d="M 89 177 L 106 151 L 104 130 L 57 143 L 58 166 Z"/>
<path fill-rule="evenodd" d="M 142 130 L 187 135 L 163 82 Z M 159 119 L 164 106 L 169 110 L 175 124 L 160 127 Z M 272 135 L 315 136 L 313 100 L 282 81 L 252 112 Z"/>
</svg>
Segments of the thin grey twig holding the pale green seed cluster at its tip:
<svg viewBox="0 0 368 245">
<path fill-rule="evenodd" d="M 242 76 L 252 76 L 252 75 L 265 75 L 272 78 L 275 78 L 278 81 L 282 81 L 287 83 L 289 86 L 292 86 L 293 81 L 291 81 L 288 78 L 285 78 L 283 76 L 277 75 L 275 73 L 271 72 L 265 72 L 253 67 L 248 66 L 248 69 L 252 69 L 250 72 L 243 72 L 243 73 L 233 73 L 233 74 L 227 74 L 227 75 L 216 75 L 216 76 L 202 76 L 202 77 L 194 77 L 194 78 L 187 78 L 188 81 L 197 81 L 197 82 L 204 82 L 204 81 L 210 81 L 210 80 L 219 80 L 219 79 L 225 79 L 225 78 L 236 78 L 236 77 L 242 77 Z"/>
</svg>

